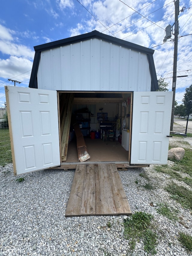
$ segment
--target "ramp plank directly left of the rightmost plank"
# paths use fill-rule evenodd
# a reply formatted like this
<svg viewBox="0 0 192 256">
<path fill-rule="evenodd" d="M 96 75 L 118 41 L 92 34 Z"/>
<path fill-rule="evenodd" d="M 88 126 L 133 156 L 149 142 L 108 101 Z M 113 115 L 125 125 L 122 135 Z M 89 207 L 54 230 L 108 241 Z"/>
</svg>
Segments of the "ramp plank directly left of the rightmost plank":
<svg viewBox="0 0 192 256">
<path fill-rule="evenodd" d="M 116 215 L 116 206 L 113 198 L 113 189 L 109 178 L 109 173 L 105 164 L 99 164 L 99 182 L 102 215 Z M 96 213 L 97 214 L 97 213 Z"/>
</svg>

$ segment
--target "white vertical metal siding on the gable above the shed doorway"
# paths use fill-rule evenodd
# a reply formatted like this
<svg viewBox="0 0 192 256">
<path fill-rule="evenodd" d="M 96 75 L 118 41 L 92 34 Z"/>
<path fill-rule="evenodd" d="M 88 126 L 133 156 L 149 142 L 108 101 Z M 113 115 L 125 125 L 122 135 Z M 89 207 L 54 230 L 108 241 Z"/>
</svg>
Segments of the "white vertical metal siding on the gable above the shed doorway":
<svg viewBox="0 0 192 256">
<path fill-rule="evenodd" d="M 150 91 L 147 55 L 99 39 L 41 53 L 38 88 L 74 91 Z"/>
</svg>

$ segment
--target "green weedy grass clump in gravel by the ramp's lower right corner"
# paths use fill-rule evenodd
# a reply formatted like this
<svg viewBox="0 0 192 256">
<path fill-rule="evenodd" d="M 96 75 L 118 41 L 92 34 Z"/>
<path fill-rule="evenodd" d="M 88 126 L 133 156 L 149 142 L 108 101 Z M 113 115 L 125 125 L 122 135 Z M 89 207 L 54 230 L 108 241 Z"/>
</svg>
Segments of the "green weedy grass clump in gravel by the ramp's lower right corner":
<svg viewBox="0 0 192 256">
<path fill-rule="evenodd" d="M 124 220 L 124 237 L 129 240 L 131 250 L 134 250 L 136 242 L 143 240 L 144 250 L 155 254 L 157 235 L 152 229 L 153 216 L 146 212 L 136 212 Z"/>
</svg>

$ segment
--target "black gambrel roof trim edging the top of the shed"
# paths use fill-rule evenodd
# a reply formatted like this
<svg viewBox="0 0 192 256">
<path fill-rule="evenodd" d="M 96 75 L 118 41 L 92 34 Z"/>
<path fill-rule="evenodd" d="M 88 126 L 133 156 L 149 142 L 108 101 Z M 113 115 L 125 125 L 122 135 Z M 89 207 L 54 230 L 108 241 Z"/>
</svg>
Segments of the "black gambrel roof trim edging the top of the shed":
<svg viewBox="0 0 192 256">
<path fill-rule="evenodd" d="M 125 48 L 128 48 L 128 49 L 146 54 L 148 62 L 149 62 L 149 70 L 150 70 L 151 80 L 152 80 L 151 91 L 156 91 L 158 89 L 158 81 L 157 81 L 157 76 L 156 76 L 156 71 L 155 71 L 155 64 L 154 64 L 154 59 L 153 59 L 154 50 L 143 47 L 143 46 L 140 46 L 140 45 L 137 45 L 137 44 L 130 43 L 128 41 L 125 41 L 125 40 L 122 40 L 122 39 L 119 39 L 119 38 L 112 37 L 110 35 L 102 34 L 102 33 L 98 32 L 96 30 L 94 30 L 92 32 L 89 32 L 89 33 L 86 33 L 86 34 L 77 35 L 77 36 L 74 36 L 74 37 L 65 38 L 65 39 L 61 39 L 61 40 L 58 40 L 58 41 L 54 41 L 54 42 L 50 42 L 50 43 L 35 46 L 34 47 L 35 57 L 34 57 L 34 62 L 33 62 L 29 87 L 38 88 L 37 72 L 38 72 L 38 66 L 39 66 L 42 51 L 46 51 L 46 50 L 54 49 L 54 48 L 57 48 L 57 47 L 74 44 L 74 43 L 77 43 L 77 42 L 81 42 L 81 41 L 85 41 L 85 40 L 89 40 L 89 39 L 93 39 L 93 38 L 101 39 L 103 41 L 107 41 L 109 43 L 116 44 L 116 45 L 119 45 L 119 46 L 122 46 L 122 47 L 125 47 Z"/>
</svg>

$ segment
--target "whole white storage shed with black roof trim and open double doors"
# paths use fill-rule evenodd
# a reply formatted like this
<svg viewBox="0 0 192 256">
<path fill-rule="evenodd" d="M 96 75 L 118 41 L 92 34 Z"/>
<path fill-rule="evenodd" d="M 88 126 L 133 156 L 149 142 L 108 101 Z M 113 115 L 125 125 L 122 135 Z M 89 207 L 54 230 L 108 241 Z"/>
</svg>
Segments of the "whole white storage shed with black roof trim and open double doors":
<svg viewBox="0 0 192 256">
<path fill-rule="evenodd" d="M 173 95 L 156 92 L 154 50 L 98 31 L 34 49 L 29 88 L 5 86 L 15 174 L 167 163 Z"/>
</svg>

